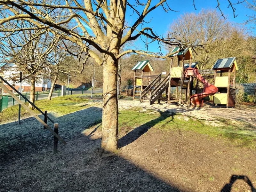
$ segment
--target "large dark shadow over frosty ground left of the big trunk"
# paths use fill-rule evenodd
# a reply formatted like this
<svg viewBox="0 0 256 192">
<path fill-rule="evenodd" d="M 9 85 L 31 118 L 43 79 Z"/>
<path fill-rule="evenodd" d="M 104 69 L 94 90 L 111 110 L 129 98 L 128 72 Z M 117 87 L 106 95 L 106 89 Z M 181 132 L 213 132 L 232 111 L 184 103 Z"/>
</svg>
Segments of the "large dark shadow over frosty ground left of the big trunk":
<svg viewBox="0 0 256 192">
<path fill-rule="evenodd" d="M 121 156 L 99 157 L 100 139 L 92 140 L 93 132 L 90 136 L 81 132 L 99 123 L 101 108 L 58 118 L 49 115 L 59 123 L 59 135 L 67 141 L 67 145 L 59 142 L 56 155 L 52 155 L 53 135 L 33 117 L 22 119 L 20 125 L 0 125 L 1 190 L 186 192 Z"/>
</svg>

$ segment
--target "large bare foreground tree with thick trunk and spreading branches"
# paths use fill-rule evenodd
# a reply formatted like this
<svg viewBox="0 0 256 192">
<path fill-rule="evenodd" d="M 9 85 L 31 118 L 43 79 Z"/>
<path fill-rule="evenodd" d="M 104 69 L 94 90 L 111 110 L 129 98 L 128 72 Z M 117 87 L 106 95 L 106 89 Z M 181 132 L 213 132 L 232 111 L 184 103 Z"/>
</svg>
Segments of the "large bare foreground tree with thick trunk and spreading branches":
<svg viewBox="0 0 256 192">
<path fill-rule="evenodd" d="M 217 0 L 218 2 L 218 0 Z M 228 0 L 233 7 L 231 0 Z M 22 30 L 44 28 L 56 36 L 69 40 L 79 45 L 84 52 L 91 56 L 103 68 L 103 112 L 102 112 L 102 140 L 101 148 L 106 151 L 115 151 L 118 140 L 118 106 L 117 106 L 117 65 L 118 60 L 127 53 L 137 53 L 156 58 L 167 58 L 170 54 L 163 55 L 142 50 L 126 50 L 120 53 L 120 47 L 128 41 L 134 41 L 144 36 L 144 41 L 149 44 L 157 41 L 159 47 L 162 43 L 175 46 L 188 46 L 186 42 L 176 41 L 172 34 L 157 35 L 152 28 L 144 27 L 146 16 L 156 8 L 163 11 L 172 11 L 167 0 L 153 3 L 151 0 L 142 3 L 140 0 L 76 0 L 64 1 L 26 1 L 26 0 L 0 0 L 4 11 L 0 25 L 16 23 L 26 20 L 33 27 Z M 137 20 L 124 27 L 127 8 L 137 15 Z M 58 14 L 57 14 L 58 13 Z M 61 18 L 61 19 L 60 19 Z M 0 26 L 0 27 L 1 27 Z M 88 32 L 90 28 L 90 33 Z M 128 29 L 126 34 L 124 30 Z M 10 29 L 20 31 L 16 27 Z M 0 29 L 0 31 L 3 31 Z M 61 31 L 59 33 L 57 31 Z M 175 41 L 174 41 L 175 40 Z M 92 47 L 103 54 L 103 59 L 97 55 Z"/>
</svg>

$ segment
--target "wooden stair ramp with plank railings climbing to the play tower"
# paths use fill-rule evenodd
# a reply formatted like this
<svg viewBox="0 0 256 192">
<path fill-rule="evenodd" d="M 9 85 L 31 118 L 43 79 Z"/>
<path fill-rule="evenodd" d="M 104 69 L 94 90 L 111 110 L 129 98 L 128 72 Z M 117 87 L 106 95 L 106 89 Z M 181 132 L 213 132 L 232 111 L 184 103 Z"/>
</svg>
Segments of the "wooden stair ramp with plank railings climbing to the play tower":
<svg viewBox="0 0 256 192">
<path fill-rule="evenodd" d="M 140 93 L 140 103 L 152 105 L 169 86 L 170 73 L 161 80 L 161 73 Z"/>
</svg>

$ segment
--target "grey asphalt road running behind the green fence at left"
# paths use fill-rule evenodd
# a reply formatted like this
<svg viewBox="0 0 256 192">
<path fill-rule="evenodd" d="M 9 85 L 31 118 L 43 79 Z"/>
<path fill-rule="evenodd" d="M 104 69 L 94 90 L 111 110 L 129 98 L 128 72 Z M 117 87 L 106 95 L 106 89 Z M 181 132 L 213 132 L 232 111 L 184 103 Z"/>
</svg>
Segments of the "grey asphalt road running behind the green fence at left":
<svg viewBox="0 0 256 192">
<path fill-rule="evenodd" d="M 92 90 L 84 90 L 84 94 L 91 94 Z M 102 89 L 101 88 L 94 88 L 93 89 L 93 93 L 102 93 Z M 66 94 L 68 95 L 68 91 L 66 92 Z M 72 95 L 76 95 L 76 94 L 82 94 L 82 90 L 72 90 Z M 55 93 L 52 93 L 52 98 L 54 97 L 58 97 L 59 93 L 56 91 Z M 61 92 L 60 92 L 61 95 Z M 69 90 L 69 95 L 70 95 L 70 90 Z M 35 95 L 36 97 L 36 95 Z M 29 95 L 27 97 L 29 99 Z M 38 100 L 43 100 L 43 99 L 47 99 L 48 98 L 48 94 L 38 94 Z M 36 98 L 35 98 L 36 99 Z M 25 99 L 21 98 L 22 102 L 25 102 Z M 14 101 L 14 105 L 17 105 L 18 102 Z M 12 97 L 8 97 L 8 107 L 12 106 Z"/>
</svg>

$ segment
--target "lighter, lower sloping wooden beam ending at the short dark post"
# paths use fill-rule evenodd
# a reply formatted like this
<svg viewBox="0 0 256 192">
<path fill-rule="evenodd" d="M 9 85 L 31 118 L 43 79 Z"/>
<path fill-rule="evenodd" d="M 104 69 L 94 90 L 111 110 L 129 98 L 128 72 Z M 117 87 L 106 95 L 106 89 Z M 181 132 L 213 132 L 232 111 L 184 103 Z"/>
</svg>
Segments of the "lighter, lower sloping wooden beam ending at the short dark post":
<svg viewBox="0 0 256 192">
<path fill-rule="evenodd" d="M 34 111 L 32 111 L 27 105 L 25 105 L 25 103 L 23 103 L 14 93 L 12 93 L 11 90 L 9 90 L 3 83 L 0 82 L 0 87 L 2 87 L 4 89 L 4 91 L 6 91 L 7 93 L 9 93 L 23 108 L 25 108 L 28 113 L 30 113 L 33 117 L 36 118 L 37 121 L 39 121 L 42 125 L 44 125 L 46 127 L 46 129 L 48 129 L 55 137 L 57 137 L 63 144 L 67 144 L 66 141 L 64 141 L 58 134 L 56 134 L 51 127 L 49 127 L 49 125 L 47 125 L 46 123 L 44 123 L 44 121 L 37 116 Z"/>
</svg>

